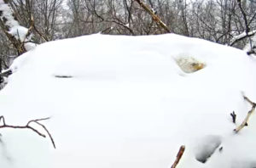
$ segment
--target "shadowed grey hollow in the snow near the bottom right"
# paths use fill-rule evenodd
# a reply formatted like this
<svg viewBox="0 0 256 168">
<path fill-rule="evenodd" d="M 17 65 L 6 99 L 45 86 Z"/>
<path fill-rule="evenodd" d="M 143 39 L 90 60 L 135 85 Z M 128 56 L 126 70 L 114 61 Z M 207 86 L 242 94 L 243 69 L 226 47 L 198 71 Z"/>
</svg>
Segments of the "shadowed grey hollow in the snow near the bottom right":
<svg viewBox="0 0 256 168">
<path fill-rule="evenodd" d="M 219 136 L 203 137 L 195 148 L 195 159 L 201 163 L 206 163 L 220 144 L 221 137 Z"/>
</svg>

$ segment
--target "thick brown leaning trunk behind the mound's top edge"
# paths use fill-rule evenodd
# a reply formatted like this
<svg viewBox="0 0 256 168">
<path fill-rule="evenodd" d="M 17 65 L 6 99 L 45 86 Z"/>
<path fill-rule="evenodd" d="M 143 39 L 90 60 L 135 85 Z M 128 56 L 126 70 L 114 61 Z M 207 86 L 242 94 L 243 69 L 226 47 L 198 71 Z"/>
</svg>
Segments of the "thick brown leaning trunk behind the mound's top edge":
<svg viewBox="0 0 256 168">
<path fill-rule="evenodd" d="M 166 24 L 162 21 L 162 20 L 160 20 L 160 18 L 156 15 L 156 14 L 154 14 L 154 11 L 151 9 L 151 8 L 149 8 L 146 4 L 144 4 L 141 0 L 135 0 L 137 3 L 139 3 L 140 5 L 141 5 L 141 7 L 143 7 L 147 12 L 148 12 L 148 14 L 150 14 L 151 15 L 151 17 L 152 17 L 152 19 L 157 23 L 157 25 L 159 26 L 159 27 L 162 27 L 162 28 L 164 28 L 164 30 L 167 32 L 167 33 L 171 33 L 171 31 L 168 29 L 168 27 L 166 26 Z"/>
</svg>

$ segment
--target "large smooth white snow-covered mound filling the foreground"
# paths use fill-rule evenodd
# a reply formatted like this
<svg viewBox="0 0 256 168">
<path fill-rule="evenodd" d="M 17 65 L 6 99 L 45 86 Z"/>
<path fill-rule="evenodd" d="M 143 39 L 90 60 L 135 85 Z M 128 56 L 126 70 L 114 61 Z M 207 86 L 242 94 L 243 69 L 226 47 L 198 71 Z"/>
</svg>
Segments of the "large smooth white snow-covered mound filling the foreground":
<svg viewBox="0 0 256 168">
<path fill-rule="evenodd" d="M 255 116 L 233 132 L 251 109 L 242 92 L 256 101 L 256 60 L 241 50 L 173 34 L 97 34 L 44 43 L 11 69 L 0 92 L 6 124 L 51 117 L 40 123 L 56 148 L 49 136 L 2 128 L 0 167 L 170 168 L 181 145 L 178 167 L 256 165 Z"/>
</svg>

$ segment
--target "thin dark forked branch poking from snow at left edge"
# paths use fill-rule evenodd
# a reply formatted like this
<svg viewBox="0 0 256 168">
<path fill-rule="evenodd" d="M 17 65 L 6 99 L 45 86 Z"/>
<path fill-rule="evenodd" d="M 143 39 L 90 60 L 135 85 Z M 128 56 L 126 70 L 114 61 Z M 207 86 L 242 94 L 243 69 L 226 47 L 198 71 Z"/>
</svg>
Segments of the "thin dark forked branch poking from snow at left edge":
<svg viewBox="0 0 256 168">
<path fill-rule="evenodd" d="M 56 147 L 55 147 L 54 139 L 53 139 L 53 137 L 51 136 L 51 134 L 49 133 L 49 131 L 47 130 L 47 128 L 46 128 L 43 124 L 39 123 L 39 121 L 41 121 L 41 120 L 49 120 L 49 117 L 43 118 L 43 119 L 37 119 L 37 120 L 29 120 L 29 121 L 27 122 L 26 126 L 10 126 L 10 125 L 7 125 L 7 124 L 5 123 L 5 119 L 4 119 L 3 115 L 0 116 L 0 123 L 1 123 L 1 120 L 3 121 L 3 125 L 0 126 L 0 129 L 1 129 L 1 128 L 30 129 L 30 130 L 32 130 L 33 132 L 36 132 L 39 136 L 41 136 L 41 137 L 46 137 L 43 133 L 39 132 L 37 129 L 33 128 L 32 126 L 29 126 L 29 124 L 31 124 L 32 122 L 34 122 L 34 123 L 38 124 L 39 126 L 42 126 L 42 127 L 44 128 L 44 131 L 47 132 L 47 134 L 48 134 L 48 136 L 49 136 L 49 138 L 50 138 L 50 141 L 51 141 L 51 143 L 53 144 L 54 148 L 56 148 Z"/>
</svg>

